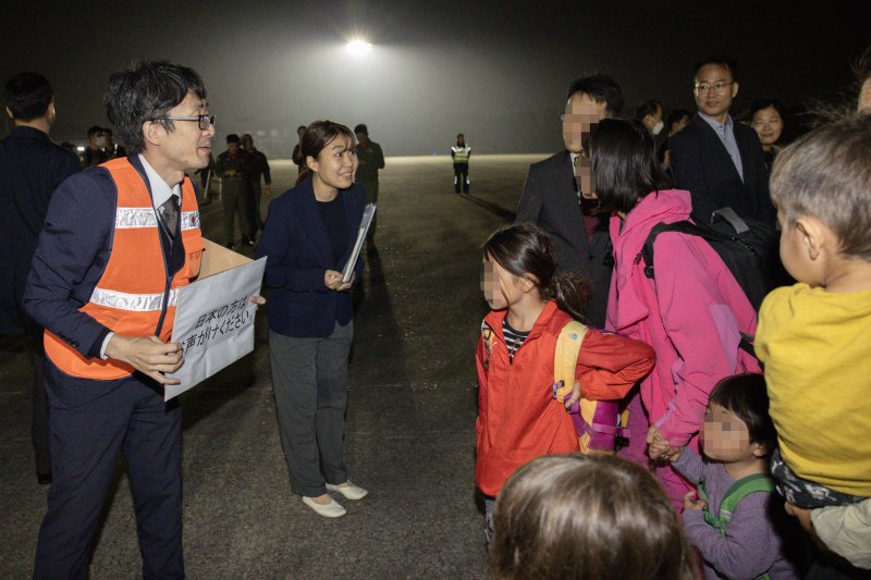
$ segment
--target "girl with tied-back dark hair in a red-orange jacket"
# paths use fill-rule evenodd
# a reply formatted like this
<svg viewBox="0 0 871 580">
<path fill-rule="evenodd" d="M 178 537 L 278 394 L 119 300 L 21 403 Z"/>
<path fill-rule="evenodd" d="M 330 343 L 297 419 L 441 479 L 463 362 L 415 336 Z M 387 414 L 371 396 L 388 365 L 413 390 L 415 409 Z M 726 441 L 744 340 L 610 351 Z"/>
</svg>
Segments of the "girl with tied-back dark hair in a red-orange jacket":
<svg viewBox="0 0 871 580">
<path fill-rule="evenodd" d="M 492 498 L 518 467 L 580 449 L 563 405 L 581 395 L 619 399 L 653 366 L 647 344 L 578 324 L 574 394 L 567 402 L 554 397 L 559 336 L 584 314 L 585 282 L 579 274 L 556 274 L 551 240 L 536 225 L 503 226 L 483 245 L 481 288 L 492 312 L 481 324 L 477 351 L 475 480 L 486 496 L 488 539 Z"/>
</svg>

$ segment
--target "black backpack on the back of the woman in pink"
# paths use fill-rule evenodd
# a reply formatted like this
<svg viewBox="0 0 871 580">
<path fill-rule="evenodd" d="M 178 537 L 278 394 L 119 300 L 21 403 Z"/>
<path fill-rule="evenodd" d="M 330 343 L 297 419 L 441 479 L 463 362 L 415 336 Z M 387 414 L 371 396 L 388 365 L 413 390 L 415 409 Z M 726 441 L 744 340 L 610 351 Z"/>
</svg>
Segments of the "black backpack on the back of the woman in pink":
<svg viewBox="0 0 871 580">
<path fill-rule="evenodd" d="M 637 258 L 645 260 L 645 275 L 649 279 L 654 276 L 653 243 L 663 232 L 679 232 L 708 242 L 757 311 L 769 292 L 790 283 L 789 274 L 781 263 L 777 231 L 759 221 L 743 220 L 732 208 L 716 210 L 711 225 L 698 225 L 689 221 L 654 225 Z M 751 336 L 745 336 L 745 343 L 751 342 Z M 749 348 L 748 351 L 753 354 L 749 344 L 743 344 L 741 347 L 745 350 Z"/>
</svg>

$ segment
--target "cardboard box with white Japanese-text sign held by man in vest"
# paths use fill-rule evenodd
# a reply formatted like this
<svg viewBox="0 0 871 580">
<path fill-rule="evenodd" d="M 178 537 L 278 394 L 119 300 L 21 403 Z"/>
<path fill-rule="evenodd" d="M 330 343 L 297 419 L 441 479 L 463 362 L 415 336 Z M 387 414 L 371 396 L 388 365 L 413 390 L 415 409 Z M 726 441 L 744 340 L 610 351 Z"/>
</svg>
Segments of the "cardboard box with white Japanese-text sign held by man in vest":
<svg viewBox="0 0 871 580">
<path fill-rule="evenodd" d="M 230 268 L 218 273 L 207 271 L 209 267 L 204 256 L 200 279 L 179 291 L 172 342 L 182 345 L 184 365 L 174 373 L 167 374 L 181 383 L 164 385 L 164 400 L 181 395 L 254 350 L 257 305 L 250 301 L 250 297 L 260 294 L 266 258 L 250 261 L 219 248 L 209 243 L 206 254 L 223 250 L 234 255 L 221 254 L 221 258 L 229 260 L 225 266 Z M 232 266 L 234 260 L 247 263 Z"/>
</svg>

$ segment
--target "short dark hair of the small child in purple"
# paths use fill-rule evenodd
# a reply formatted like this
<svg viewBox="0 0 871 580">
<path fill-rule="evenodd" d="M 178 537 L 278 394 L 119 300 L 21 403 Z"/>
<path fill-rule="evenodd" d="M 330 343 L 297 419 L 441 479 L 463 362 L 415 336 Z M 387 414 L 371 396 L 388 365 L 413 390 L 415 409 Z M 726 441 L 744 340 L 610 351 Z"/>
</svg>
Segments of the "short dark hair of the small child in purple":
<svg viewBox="0 0 871 580">
<path fill-rule="evenodd" d="M 711 391 L 708 403 L 720 405 L 747 425 L 750 442 L 759 443 L 770 454 L 777 444 L 777 432 L 769 415 L 765 378 L 756 372 L 726 377 Z"/>
</svg>

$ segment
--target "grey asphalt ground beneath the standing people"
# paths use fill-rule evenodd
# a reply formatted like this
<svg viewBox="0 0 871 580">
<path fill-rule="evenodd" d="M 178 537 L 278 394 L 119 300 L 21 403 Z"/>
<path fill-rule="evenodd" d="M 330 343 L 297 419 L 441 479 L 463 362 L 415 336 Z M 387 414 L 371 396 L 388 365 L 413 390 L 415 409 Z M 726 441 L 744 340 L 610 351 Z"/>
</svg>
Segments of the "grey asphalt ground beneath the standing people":
<svg viewBox="0 0 871 580">
<path fill-rule="evenodd" d="M 483 577 L 473 479 L 474 348 L 487 311 L 480 245 L 513 220 L 526 170 L 543 157 L 473 157 L 468 196 L 453 193 L 447 158 L 388 159 L 376 245 L 356 296 L 345 436 L 349 477 L 370 494 L 340 497 L 346 516 L 322 518 L 291 494 L 263 312 L 255 351 L 182 395 L 189 578 Z M 271 164 L 278 194 L 296 170 Z M 220 202 L 201 217 L 206 236 L 223 243 Z M 29 441 L 30 382 L 26 344 L 0 341 L 2 579 L 29 578 L 45 513 L 47 488 L 36 483 Z M 122 459 L 93 579 L 140 577 L 135 526 Z"/>
</svg>

